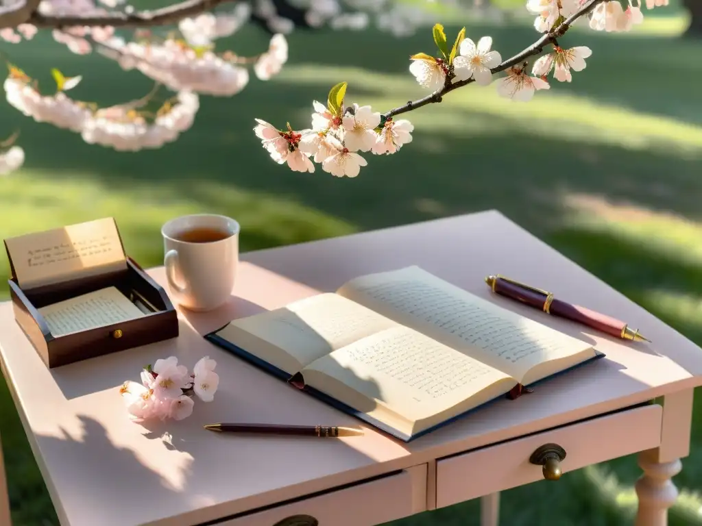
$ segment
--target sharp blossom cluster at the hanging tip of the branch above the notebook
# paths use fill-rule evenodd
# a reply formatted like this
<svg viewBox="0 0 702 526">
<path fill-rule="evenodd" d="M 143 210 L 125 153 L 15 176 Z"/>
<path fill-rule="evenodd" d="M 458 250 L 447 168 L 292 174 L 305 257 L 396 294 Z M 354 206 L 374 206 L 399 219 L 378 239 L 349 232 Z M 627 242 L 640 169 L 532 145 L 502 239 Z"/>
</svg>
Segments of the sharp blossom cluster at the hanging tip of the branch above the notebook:
<svg viewBox="0 0 702 526">
<path fill-rule="evenodd" d="M 383 119 L 370 106 L 346 106 L 345 82 L 331 88 L 328 104 L 314 101 L 312 128 L 279 130 L 256 119 L 253 128 L 271 158 L 295 172 L 314 172 L 314 164 L 336 177 L 356 177 L 368 161 L 359 152 L 395 154 L 411 142 L 414 126 L 406 119 Z"/>
</svg>

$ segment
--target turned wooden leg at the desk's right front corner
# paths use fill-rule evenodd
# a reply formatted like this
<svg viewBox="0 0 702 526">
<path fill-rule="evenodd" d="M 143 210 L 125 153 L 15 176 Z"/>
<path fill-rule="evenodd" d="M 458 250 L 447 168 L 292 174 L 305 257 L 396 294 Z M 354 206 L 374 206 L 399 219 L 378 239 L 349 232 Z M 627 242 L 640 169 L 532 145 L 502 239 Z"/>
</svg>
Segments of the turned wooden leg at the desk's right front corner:
<svg viewBox="0 0 702 526">
<path fill-rule="evenodd" d="M 656 450 L 650 450 L 639 455 L 639 466 L 644 475 L 636 483 L 636 526 L 668 526 L 668 508 L 677 499 L 677 488 L 670 479 L 680 473 L 682 463 L 679 459 L 658 462 Z"/>
</svg>

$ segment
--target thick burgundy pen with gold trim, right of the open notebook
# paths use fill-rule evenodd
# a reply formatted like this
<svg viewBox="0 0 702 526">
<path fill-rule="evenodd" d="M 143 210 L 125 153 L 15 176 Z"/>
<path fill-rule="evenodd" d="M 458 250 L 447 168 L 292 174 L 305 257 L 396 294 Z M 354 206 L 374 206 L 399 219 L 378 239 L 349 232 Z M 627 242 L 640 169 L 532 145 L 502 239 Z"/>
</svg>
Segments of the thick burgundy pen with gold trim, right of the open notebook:
<svg viewBox="0 0 702 526">
<path fill-rule="evenodd" d="M 582 323 L 607 334 L 621 338 L 629 339 L 634 342 L 650 342 L 651 340 L 644 338 L 639 334 L 638 330 L 631 329 L 623 321 L 616 318 L 611 318 L 605 314 L 585 309 L 578 305 L 566 303 L 560 299 L 555 299 L 550 292 L 538 288 L 524 285 L 505 276 L 487 276 L 485 283 L 492 289 L 493 292 L 503 295 L 510 299 L 515 299 L 535 309 L 543 310 L 547 314 L 567 318 L 568 320 Z"/>
</svg>

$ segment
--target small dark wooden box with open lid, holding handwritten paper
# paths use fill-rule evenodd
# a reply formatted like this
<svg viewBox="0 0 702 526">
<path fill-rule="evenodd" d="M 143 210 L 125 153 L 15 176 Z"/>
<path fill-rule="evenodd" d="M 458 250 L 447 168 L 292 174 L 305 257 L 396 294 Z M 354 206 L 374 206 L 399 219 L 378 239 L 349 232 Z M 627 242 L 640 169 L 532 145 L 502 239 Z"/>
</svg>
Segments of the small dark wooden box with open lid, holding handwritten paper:
<svg viewBox="0 0 702 526">
<path fill-rule="evenodd" d="M 164 289 L 125 255 L 112 218 L 9 238 L 5 248 L 15 320 L 47 367 L 178 336 L 176 309 Z M 54 329 L 53 334 L 40 312 L 46 306 L 111 287 L 121 292 L 120 302 L 126 297 L 128 305 L 138 306 L 139 317 L 84 330 Z M 97 318 L 91 313 L 97 311 L 86 311 L 86 305 L 91 306 L 79 305 L 81 312 Z M 77 311 L 77 307 L 72 309 Z M 86 324 L 83 319 L 79 325 Z M 54 320 L 51 318 L 56 323 Z"/>
</svg>

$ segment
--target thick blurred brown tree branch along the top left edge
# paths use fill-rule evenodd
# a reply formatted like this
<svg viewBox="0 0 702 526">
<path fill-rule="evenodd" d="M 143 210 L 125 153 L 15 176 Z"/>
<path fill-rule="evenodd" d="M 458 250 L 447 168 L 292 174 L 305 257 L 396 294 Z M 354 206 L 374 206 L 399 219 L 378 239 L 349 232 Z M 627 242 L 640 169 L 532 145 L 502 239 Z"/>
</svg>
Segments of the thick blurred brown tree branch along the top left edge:
<svg viewBox="0 0 702 526">
<path fill-rule="evenodd" d="M 35 1 L 35 0 L 29 0 Z M 37 27 L 71 27 L 71 26 L 112 26 L 112 27 L 153 27 L 169 25 L 178 22 L 183 18 L 209 11 L 210 9 L 235 0 L 185 0 L 172 6 L 167 6 L 154 11 L 138 11 L 136 13 L 105 13 L 105 15 L 42 15 L 34 9 L 34 12 L 27 17 L 27 24 Z M 38 1 L 35 1 L 39 4 Z M 16 24 L 6 22 L 4 16 L 0 15 L 0 27 L 13 27 Z"/>
</svg>

